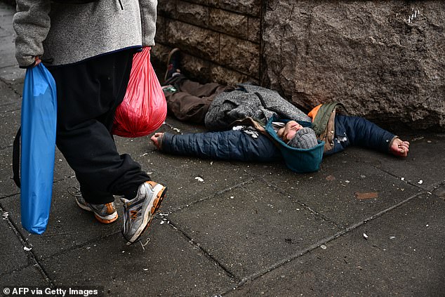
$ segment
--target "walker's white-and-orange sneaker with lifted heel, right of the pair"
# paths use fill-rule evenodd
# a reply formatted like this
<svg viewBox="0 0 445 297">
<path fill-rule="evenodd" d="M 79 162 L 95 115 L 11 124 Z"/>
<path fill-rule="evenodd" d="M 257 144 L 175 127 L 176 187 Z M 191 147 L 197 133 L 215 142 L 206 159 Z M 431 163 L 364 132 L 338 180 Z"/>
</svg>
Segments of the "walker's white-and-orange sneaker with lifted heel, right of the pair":
<svg viewBox="0 0 445 297">
<path fill-rule="evenodd" d="M 138 194 L 134 199 L 128 200 L 121 197 L 121 202 L 124 204 L 122 235 L 127 240 L 127 245 L 137 241 L 150 226 L 166 191 L 166 187 L 150 180 L 139 186 Z"/>
</svg>

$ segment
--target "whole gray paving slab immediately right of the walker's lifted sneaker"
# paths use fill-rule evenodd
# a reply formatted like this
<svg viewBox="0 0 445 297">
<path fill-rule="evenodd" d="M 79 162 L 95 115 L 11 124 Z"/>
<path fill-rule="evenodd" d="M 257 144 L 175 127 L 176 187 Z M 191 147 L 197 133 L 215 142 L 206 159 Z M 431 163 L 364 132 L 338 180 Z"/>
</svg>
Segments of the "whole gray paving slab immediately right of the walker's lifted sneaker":
<svg viewBox="0 0 445 297">
<path fill-rule="evenodd" d="M 239 279 L 340 231 L 263 180 L 216 194 L 168 219 Z"/>
</svg>

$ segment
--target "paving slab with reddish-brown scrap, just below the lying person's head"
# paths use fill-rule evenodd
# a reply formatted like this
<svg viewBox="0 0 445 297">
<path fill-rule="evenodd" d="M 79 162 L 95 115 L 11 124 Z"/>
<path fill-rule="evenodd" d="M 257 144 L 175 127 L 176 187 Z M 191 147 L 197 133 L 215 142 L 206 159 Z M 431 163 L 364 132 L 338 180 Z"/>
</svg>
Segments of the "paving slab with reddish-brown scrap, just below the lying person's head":
<svg viewBox="0 0 445 297">
<path fill-rule="evenodd" d="M 282 171 L 264 178 L 295 201 L 343 227 L 371 218 L 421 191 L 348 154 L 336 154 L 323 162 L 317 173 Z M 376 198 L 360 199 L 366 194 Z"/>
</svg>

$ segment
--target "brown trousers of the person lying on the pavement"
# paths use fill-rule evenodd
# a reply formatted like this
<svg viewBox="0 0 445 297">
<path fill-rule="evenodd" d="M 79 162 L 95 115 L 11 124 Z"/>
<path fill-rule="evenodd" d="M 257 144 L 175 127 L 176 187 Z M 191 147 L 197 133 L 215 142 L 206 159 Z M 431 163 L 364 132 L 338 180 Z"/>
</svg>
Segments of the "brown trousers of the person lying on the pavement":
<svg viewBox="0 0 445 297">
<path fill-rule="evenodd" d="M 172 84 L 178 89 L 178 92 L 175 93 L 164 92 L 168 112 L 180 121 L 191 121 L 198 124 L 204 124 L 208 106 L 212 103 L 215 95 L 234 89 L 232 86 L 220 84 L 199 84 L 187 79 L 183 74 L 168 79 L 166 84 Z"/>
</svg>

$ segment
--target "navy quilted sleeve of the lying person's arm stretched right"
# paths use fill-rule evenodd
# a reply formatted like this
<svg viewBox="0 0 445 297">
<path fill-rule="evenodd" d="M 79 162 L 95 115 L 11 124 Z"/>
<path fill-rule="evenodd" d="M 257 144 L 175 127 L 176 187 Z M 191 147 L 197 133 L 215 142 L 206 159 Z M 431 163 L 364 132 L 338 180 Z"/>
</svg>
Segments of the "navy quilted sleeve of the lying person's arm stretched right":
<svg viewBox="0 0 445 297">
<path fill-rule="evenodd" d="M 350 145 L 367 147 L 380 152 L 389 152 L 390 143 L 397 137 L 367 119 L 343 114 L 336 115 L 337 137 L 342 136 L 339 130 L 344 131 Z"/>
</svg>

